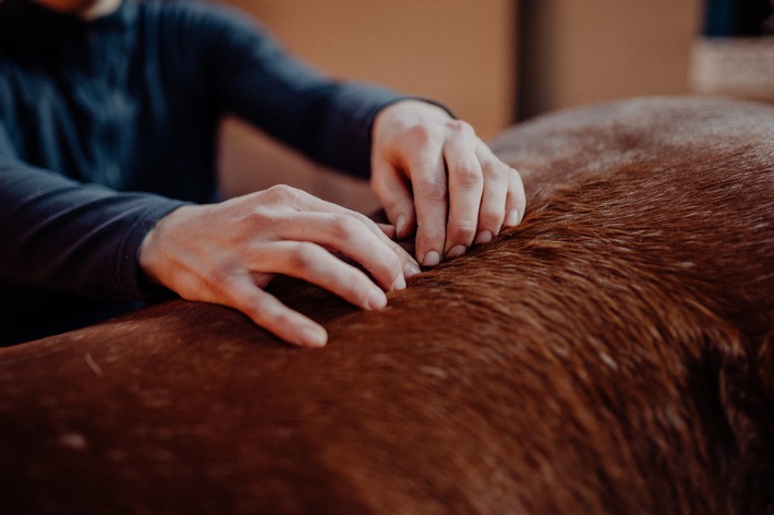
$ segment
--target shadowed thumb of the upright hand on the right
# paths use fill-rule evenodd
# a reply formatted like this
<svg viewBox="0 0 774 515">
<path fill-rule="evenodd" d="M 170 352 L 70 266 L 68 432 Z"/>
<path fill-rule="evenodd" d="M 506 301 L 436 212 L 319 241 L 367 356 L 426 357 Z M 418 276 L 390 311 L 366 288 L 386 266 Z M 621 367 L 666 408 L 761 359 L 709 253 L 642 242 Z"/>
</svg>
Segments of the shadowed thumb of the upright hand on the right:
<svg viewBox="0 0 774 515">
<path fill-rule="evenodd" d="M 411 191 L 401 173 L 388 161 L 374 163 L 371 189 L 382 203 L 387 219 L 395 226 L 397 238 L 411 235 L 416 226 L 416 212 Z"/>
</svg>

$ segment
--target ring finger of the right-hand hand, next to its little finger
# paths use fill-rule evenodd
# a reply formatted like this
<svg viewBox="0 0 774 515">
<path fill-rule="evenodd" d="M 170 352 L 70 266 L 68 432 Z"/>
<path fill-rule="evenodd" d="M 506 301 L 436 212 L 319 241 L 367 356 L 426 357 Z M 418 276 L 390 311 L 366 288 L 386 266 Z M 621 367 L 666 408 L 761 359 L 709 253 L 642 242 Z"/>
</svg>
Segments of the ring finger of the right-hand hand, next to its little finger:
<svg viewBox="0 0 774 515">
<path fill-rule="evenodd" d="M 500 161 L 483 142 L 480 143 L 476 155 L 484 173 L 479 229 L 474 240 L 474 243 L 481 244 L 492 241 L 503 227 L 510 176 L 516 170 Z"/>
</svg>

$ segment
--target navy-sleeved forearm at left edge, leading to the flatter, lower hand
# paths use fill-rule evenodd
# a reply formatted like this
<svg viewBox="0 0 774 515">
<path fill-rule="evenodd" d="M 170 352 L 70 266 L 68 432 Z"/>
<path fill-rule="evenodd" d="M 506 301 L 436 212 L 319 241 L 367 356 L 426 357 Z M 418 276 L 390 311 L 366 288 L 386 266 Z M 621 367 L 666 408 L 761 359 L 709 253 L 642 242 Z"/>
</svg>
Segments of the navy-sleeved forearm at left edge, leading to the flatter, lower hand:
<svg viewBox="0 0 774 515">
<path fill-rule="evenodd" d="M 143 298 L 137 251 L 165 197 L 84 185 L 19 161 L 0 161 L 0 276 L 89 297 Z"/>
</svg>

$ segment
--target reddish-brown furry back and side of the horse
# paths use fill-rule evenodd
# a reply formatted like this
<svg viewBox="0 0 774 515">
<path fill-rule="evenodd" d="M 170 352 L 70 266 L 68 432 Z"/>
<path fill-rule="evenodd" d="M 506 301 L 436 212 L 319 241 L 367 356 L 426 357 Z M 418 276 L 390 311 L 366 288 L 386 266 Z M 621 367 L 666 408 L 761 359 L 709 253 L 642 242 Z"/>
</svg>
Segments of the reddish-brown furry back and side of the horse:
<svg viewBox="0 0 774 515">
<path fill-rule="evenodd" d="M 323 350 L 170 301 L 0 350 L 2 513 L 774 511 L 774 109 L 653 98 L 494 142 L 521 226 Z"/>
</svg>

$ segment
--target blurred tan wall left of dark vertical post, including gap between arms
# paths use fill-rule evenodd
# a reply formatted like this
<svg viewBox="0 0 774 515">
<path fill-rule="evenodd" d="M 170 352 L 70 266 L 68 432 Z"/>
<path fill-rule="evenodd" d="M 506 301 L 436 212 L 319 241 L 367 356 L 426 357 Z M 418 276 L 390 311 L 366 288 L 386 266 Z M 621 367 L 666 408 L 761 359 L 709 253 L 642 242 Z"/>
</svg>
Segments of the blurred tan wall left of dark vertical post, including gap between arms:
<svg viewBox="0 0 774 515">
<path fill-rule="evenodd" d="M 295 55 L 346 79 L 432 97 L 489 137 L 513 121 L 516 9 L 511 0 L 230 0 Z M 286 182 L 360 211 L 367 185 L 289 156 L 230 121 L 222 139 L 227 195 Z"/>
</svg>

